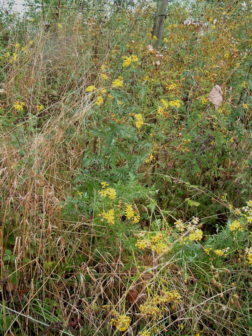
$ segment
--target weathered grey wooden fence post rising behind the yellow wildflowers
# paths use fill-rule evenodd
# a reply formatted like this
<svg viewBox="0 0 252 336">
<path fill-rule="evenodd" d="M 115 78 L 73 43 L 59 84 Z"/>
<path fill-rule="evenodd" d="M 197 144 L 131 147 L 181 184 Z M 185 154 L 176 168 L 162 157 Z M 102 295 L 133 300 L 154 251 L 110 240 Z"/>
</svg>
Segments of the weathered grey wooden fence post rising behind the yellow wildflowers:
<svg viewBox="0 0 252 336">
<path fill-rule="evenodd" d="M 157 12 L 154 19 L 152 37 L 155 35 L 157 40 L 153 41 L 153 46 L 158 47 L 161 44 L 164 19 L 166 16 L 168 0 L 158 0 Z"/>
</svg>

